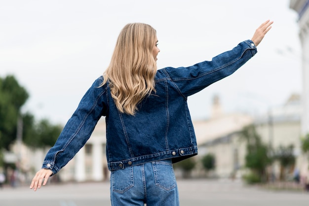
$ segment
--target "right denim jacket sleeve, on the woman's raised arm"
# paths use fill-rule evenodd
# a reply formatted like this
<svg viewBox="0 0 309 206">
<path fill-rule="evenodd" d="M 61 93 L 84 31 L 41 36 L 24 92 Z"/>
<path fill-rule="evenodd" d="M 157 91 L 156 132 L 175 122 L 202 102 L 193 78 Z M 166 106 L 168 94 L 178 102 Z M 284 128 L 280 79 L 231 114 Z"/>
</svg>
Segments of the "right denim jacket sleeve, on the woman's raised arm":
<svg viewBox="0 0 309 206">
<path fill-rule="evenodd" d="M 257 53 L 251 40 L 239 43 L 212 61 L 204 61 L 187 68 L 164 68 L 163 72 L 172 80 L 184 97 L 193 95 L 210 84 L 231 75 Z"/>
</svg>

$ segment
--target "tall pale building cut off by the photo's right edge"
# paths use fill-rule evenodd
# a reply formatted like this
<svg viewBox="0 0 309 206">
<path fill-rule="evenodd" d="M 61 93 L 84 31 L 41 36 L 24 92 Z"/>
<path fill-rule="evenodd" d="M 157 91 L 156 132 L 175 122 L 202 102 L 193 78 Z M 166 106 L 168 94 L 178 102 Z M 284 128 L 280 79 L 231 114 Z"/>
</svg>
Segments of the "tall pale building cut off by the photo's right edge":
<svg viewBox="0 0 309 206">
<path fill-rule="evenodd" d="M 299 37 L 302 45 L 302 135 L 309 134 L 309 0 L 290 0 L 290 8 L 299 15 Z"/>
</svg>

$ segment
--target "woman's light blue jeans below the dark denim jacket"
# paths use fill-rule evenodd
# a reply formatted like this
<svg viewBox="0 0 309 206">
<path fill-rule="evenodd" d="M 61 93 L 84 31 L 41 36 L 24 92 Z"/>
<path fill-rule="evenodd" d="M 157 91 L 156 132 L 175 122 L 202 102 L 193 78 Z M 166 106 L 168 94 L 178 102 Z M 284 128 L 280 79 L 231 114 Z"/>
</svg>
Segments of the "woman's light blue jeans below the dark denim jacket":
<svg viewBox="0 0 309 206">
<path fill-rule="evenodd" d="M 111 172 L 112 206 L 179 206 L 171 160 Z"/>
</svg>

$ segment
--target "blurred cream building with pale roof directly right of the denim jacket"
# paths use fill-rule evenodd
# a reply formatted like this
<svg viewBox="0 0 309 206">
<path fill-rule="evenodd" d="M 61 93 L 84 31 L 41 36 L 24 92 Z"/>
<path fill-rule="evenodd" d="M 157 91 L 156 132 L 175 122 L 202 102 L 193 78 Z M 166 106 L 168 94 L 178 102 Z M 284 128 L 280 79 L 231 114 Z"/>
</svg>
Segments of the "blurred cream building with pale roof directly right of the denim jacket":
<svg viewBox="0 0 309 206">
<path fill-rule="evenodd" d="M 240 174 L 237 171 L 244 165 L 246 147 L 244 142 L 239 141 L 239 132 L 252 124 L 253 118 L 243 113 L 225 113 L 217 96 L 213 99 L 211 114 L 207 120 L 193 121 L 198 145 L 196 159 L 213 154 L 216 165 L 213 176 L 225 178 Z M 200 175 L 200 172 L 195 173 Z"/>
</svg>

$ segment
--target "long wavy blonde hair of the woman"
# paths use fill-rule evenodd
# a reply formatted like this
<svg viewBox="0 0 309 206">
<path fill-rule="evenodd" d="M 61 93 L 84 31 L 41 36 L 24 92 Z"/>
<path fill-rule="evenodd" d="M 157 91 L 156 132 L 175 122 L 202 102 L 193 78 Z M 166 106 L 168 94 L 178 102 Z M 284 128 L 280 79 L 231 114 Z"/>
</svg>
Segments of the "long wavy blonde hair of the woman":
<svg viewBox="0 0 309 206">
<path fill-rule="evenodd" d="M 121 113 L 134 115 L 137 104 L 154 90 L 156 32 L 150 25 L 127 24 L 120 32 L 102 85 L 109 82 L 111 95 Z"/>
</svg>

